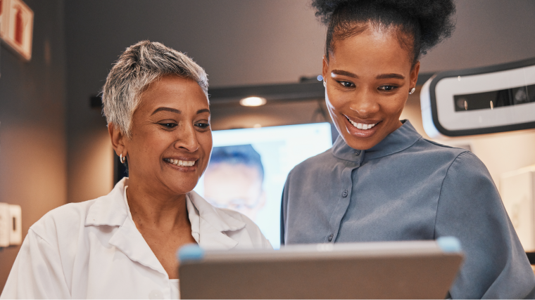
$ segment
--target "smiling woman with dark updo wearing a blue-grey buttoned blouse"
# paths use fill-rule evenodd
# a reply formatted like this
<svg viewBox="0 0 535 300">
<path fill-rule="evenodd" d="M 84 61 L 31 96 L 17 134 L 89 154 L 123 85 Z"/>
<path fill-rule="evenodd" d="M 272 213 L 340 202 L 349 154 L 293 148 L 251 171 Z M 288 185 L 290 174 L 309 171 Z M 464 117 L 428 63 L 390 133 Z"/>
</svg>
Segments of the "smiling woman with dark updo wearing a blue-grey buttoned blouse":
<svg viewBox="0 0 535 300">
<path fill-rule="evenodd" d="M 282 244 L 453 235 L 465 252 L 453 299 L 534 299 L 534 273 L 484 164 L 399 120 L 421 54 L 453 30 L 453 1 L 313 6 L 328 26 L 325 100 L 340 137 L 289 174 Z"/>
</svg>

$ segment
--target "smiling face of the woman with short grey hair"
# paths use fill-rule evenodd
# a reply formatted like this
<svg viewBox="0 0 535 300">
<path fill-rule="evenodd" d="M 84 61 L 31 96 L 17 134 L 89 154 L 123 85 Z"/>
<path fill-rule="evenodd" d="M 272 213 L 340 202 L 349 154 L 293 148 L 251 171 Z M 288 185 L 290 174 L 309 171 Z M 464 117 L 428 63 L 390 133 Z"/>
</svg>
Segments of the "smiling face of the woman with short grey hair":
<svg viewBox="0 0 535 300">
<path fill-rule="evenodd" d="M 141 94 L 123 138 L 130 184 L 168 195 L 193 190 L 212 150 L 208 98 L 192 79 L 165 76 Z"/>
</svg>

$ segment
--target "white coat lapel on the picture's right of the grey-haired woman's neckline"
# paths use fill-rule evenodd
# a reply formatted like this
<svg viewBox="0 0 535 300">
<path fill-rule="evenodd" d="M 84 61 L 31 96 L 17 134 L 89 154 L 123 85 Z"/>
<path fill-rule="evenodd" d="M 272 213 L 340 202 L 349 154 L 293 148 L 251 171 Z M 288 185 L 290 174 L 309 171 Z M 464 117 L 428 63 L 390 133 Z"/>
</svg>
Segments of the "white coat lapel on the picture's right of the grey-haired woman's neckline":
<svg viewBox="0 0 535 300">
<path fill-rule="evenodd" d="M 194 191 L 187 194 L 187 208 L 191 223 L 191 235 L 203 249 L 232 249 L 238 242 L 225 231 L 240 230 L 246 223 L 225 214 L 206 202 Z"/>
</svg>

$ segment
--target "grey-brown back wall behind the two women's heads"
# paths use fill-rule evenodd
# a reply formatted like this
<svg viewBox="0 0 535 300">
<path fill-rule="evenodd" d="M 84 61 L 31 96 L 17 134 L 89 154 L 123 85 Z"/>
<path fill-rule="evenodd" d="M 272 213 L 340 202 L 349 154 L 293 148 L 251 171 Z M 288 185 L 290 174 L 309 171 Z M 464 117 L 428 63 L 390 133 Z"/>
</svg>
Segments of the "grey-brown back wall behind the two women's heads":
<svg viewBox="0 0 535 300">
<path fill-rule="evenodd" d="M 422 59 L 421 72 L 535 56 L 535 1 L 458 0 L 457 11 L 453 37 Z M 71 0 L 65 12 L 71 202 L 111 189 L 113 152 L 88 98 L 127 46 L 150 39 L 186 52 L 206 69 L 210 87 L 296 82 L 321 72 L 325 27 L 309 0 Z"/>
</svg>

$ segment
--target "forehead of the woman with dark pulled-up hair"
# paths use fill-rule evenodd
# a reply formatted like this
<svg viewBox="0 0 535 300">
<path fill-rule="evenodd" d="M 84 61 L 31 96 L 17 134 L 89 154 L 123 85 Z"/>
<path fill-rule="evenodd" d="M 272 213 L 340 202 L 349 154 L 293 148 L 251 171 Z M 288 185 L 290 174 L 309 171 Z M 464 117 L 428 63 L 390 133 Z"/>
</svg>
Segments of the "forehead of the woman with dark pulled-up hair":
<svg viewBox="0 0 535 300">
<path fill-rule="evenodd" d="M 396 28 L 368 26 L 366 30 L 346 39 L 334 41 L 329 67 L 343 68 L 364 74 L 410 72 L 410 53 L 400 44 Z"/>
</svg>

